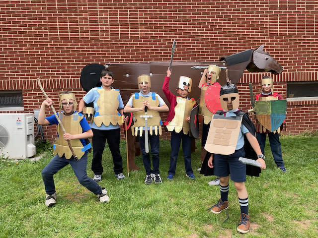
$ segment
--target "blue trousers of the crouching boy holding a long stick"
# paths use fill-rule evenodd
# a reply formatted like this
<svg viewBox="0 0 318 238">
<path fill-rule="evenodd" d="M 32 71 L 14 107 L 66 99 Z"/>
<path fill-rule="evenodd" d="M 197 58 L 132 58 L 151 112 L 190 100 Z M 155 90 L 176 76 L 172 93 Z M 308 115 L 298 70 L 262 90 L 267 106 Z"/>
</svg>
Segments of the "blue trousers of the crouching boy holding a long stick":
<svg viewBox="0 0 318 238">
<path fill-rule="evenodd" d="M 87 176 L 87 153 L 85 153 L 78 161 L 74 160 L 73 157 L 69 160 L 66 159 L 65 156 L 60 157 L 59 155 L 56 155 L 53 157 L 50 163 L 42 170 L 42 179 L 47 194 L 52 195 L 55 192 L 53 175 L 68 164 L 72 166 L 74 174 L 81 185 L 96 195 L 101 193 L 101 187 L 97 184 L 97 182 Z"/>
</svg>

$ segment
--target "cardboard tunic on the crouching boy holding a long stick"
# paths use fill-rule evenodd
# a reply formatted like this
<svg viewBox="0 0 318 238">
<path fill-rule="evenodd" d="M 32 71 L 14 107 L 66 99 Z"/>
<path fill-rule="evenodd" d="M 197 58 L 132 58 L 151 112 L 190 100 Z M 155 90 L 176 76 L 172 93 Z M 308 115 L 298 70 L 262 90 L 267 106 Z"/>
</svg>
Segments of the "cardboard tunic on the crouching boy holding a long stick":
<svg viewBox="0 0 318 238">
<path fill-rule="evenodd" d="M 74 113 L 70 116 L 65 116 L 63 114 L 59 114 L 59 118 L 65 128 L 65 130 L 70 133 L 70 134 L 81 134 L 82 133 L 82 128 L 79 124 L 79 121 L 83 119 L 83 116 L 79 116 L 79 113 Z M 65 155 L 66 159 L 71 159 L 73 156 L 72 151 L 70 150 L 68 142 L 64 139 L 63 137 L 63 129 L 60 126 L 60 124 L 57 125 L 57 131 L 59 134 L 59 137 L 54 143 L 53 147 L 53 154 L 56 155 L 58 154 L 60 157 Z M 80 142 L 79 139 L 75 140 L 70 140 L 71 141 L 71 146 L 77 155 L 78 159 L 80 159 L 84 153 L 84 147 L 82 143 Z"/>
</svg>

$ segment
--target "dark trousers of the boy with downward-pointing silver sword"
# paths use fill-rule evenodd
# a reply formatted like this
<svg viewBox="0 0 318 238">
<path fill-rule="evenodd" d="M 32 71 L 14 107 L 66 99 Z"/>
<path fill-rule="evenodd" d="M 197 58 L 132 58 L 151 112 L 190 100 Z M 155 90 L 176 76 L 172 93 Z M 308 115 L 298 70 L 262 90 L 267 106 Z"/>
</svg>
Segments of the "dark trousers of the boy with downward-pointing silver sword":
<svg viewBox="0 0 318 238">
<path fill-rule="evenodd" d="M 146 175 L 159 175 L 159 135 L 155 135 L 155 133 L 153 135 L 150 135 L 148 131 L 148 140 L 150 144 L 151 154 L 153 157 L 153 170 L 151 169 L 150 155 L 149 153 L 146 153 L 145 150 L 145 131 L 143 131 L 143 135 L 139 136 L 139 144 L 140 150 L 142 152 Z"/>
</svg>

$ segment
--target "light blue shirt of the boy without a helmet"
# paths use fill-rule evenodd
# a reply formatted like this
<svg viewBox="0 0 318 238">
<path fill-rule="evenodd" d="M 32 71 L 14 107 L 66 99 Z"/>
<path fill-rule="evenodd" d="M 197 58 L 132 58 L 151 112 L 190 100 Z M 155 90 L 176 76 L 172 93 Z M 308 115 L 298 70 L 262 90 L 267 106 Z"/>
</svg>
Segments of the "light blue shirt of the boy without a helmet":
<svg viewBox="0 0 318 238">
<path fill-rule="evenodd" d="M 99 111 L 99 107 L 97 105 L 97 100 L 99 98 L 99 93 L 97 91 L 97 89 L 101 89 L 103 88 L 102 86 L 98 87 L 98 88 L 92 88 L 91 90 L 88 91 L 88 93 L 83 97 L 83 100 L 86 104 L 88 103 L 91 103 L 93 102 L 94 104 L 94 109 L 95 109 L 95 112 L 98 112 Z M 113 89 L 111 87 L 111 89 Z M 117 90 L 117 89 L 115 89 Z M 119 90 L 118 90 L 119 91 Z M 120 110 L 120 109 L 123 109 L 124 108 L 124 103 L 123 103 L 123 100 L 120 96 L 120 93 L 118 94 L 117 96 L 117 100 L 119 101 L 119 106 L 118 106 L 118 109 L 117 110 Z M 113 129 L 118 129 L 120 128 L 120 126 L 118 125 L 118 123 L 116 125 L 113 125 L 112 123 L 110 123 L 109 125 L 104 125 L 104 123 L 102 123 L 99 127 L 95 124 L 95 122 L 93 121 L 91 124 L 90 124 L 91 128 L 94 128 L 94 129 L 98 129 L 98 130 L 113 130 Z"/>
</svg>

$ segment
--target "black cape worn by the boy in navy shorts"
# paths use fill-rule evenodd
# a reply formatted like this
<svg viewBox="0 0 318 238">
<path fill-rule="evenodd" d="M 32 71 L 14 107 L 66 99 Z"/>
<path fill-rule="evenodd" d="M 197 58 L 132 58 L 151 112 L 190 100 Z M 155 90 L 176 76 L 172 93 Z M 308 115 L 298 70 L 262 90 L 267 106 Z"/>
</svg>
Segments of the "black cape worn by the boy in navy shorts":
<svg viewBox="0 0 318 238">
<path fill-rule="evenodd" d="M 215 114 L 218 114 L 220 116 L 224 115 L 225 112 L 223 112 L 222 110 L 217 111 Z M 255 125 L 254 123 L 251 121 L 251 119 L 248 117 L 247 113 L 244 113 L 242 111 L 237 111 L 235 112 L 235 114 L 239 117 L 243 117 L 242 118 L 242 124 L 248 129 L 248 131 L 255 136 Z M 253 160 L 257 160 L 257 155 L 255 153 L 255 151 L 253 150 L 252 146 L 250 145 L 249 141 L 247 140 L 246 136 L 244 135 L 244 150 L 245 150 L 245 158 L 248 159 L 253 159 Z M 211 176 L 214 175 L 214 171 L 213 169 L 211 169 L 208 166 L 208 161 L 209 158 L 211 156 L 210 152 L 207 152 L 207 154 L 205 155 L 204 161 L 202 163 L 202 167 L 201 167 L 201 171 L 200 174 L 204 175 L 204 176 Z M 261 173 L 261 170 L 259 167 L 255 167 L 255 166 L 251 166 L 251 165 L 246 165 L 246 175 L 249 176 L 256 176 L 259 177 L 259 174 Z"/>
</svg>

